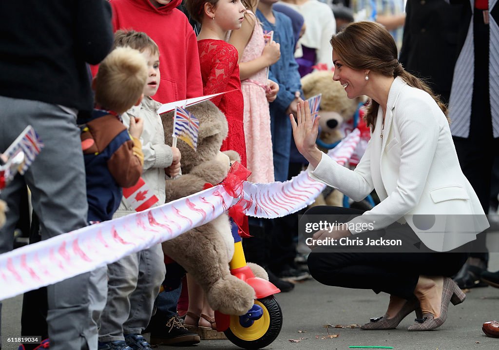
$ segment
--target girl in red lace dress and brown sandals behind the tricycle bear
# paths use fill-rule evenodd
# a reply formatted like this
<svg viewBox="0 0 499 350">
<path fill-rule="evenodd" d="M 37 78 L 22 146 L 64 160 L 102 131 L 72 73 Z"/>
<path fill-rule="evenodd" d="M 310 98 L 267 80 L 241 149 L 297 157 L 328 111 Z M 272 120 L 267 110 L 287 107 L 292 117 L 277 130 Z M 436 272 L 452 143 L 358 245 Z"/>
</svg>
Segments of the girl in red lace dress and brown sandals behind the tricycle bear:
<svg viewBox="0 0 499 350">
<path fill-rule="evenodd" d="M 238 50 L 224 41 L 229 30 L 241 28 L 246 8 L 241 0 L 188 0 L 186 7 L 191 16 L 202 24 L 198 48 L 204 94 L 237 89 L 213 98 L 212 102 L 225 114 L 229 124 L 229 134 L 221 151 L 232 149 L 238 152 L 241 163 L 246 167 L 244 102 L 239 78 Z M 189 274 L 187 284 L 189 311 L 185 327 L 198 332 L 201 339 L 227 339 L 223 333 L 217 332 L 215 312 L 208 304 L 201 287 Z"/>
</svg>

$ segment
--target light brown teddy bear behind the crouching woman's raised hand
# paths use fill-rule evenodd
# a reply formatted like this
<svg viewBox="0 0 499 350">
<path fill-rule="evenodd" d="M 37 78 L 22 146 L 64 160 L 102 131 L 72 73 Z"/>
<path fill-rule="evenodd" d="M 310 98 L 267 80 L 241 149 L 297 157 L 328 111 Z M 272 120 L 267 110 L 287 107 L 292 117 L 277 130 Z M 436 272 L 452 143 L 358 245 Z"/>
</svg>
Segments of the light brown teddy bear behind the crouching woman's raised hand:
<svg viewBox="0 0 499 350">
<path fill-rule="evenodd" d="M 359 102 L 364 102 L 364 97 L 349 99 L 345 89 L 339 81 L 333 80 L 333 71 L 315 70 L 301 78 L 301 86 L 305 98 L 322 94 L 319 109 L 320 134 L 318 136 L 321 144 L 334 144 L 340 141 L 353 129 L 353 116 L 359 106 Z M 369 134 L 369 130 L 367 130 Z M 318 145 L 327 153 L 327 149 Z M 334 191 L 331 187 L 326 187 L 319 195 L 312 206 L 333 205 L 342 206 L 343 194 Z"/>
</svg>

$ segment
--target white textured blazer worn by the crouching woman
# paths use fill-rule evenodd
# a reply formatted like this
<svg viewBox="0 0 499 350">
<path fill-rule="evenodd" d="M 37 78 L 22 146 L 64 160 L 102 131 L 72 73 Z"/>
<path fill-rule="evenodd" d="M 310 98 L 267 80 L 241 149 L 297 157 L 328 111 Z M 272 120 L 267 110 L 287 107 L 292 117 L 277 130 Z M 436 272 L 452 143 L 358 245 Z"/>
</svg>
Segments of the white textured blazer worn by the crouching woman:
<svg viewBox="0 0 499 350">
<path fill-rule="evenodd" d="M 464 176 L 449 123 L 425 91 L 397 77 L 355 170 L 326 154 L 310 177 L 359 201 L 376 190 L 381 203 L 352 220 L 374 229 L 407 222 L 435 251 L 449 251 L 476 239 L 489 227 L 470 182 Z"/>
</svg>

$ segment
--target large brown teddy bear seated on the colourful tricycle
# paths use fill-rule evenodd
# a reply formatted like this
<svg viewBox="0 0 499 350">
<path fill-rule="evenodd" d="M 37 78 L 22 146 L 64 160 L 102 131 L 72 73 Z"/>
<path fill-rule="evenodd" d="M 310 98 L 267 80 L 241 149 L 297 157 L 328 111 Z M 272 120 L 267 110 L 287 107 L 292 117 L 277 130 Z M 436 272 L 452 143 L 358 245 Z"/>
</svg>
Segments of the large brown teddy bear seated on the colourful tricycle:
<svg viewBox="0 0 499 350">
<path fill-rule="evenodd" d="M 240 161 L 235 151 L 220 152 L 228 126 L 224 114 L 212 102 L 205 101 L 187 110 L 199 119 L 197 151 L 178 140 L 183 175 L 167 181 L 166 202 L 202 191 L 207 183 L 219 184 L 227 176 L 230 162 Z M 173 115 L 174 112 L 162 114 L 168 145 L 172 144 Z M 254 290 L 229 270 L 234 238 L 227 214 L 164 242 L 163 252 L 195 278 L 214 310 L 228 315 L 244 315 L 250 310 Z M 248 265 L 255 276 L 268 279 L 261 267 Z"/>
</svg>

